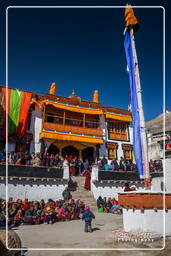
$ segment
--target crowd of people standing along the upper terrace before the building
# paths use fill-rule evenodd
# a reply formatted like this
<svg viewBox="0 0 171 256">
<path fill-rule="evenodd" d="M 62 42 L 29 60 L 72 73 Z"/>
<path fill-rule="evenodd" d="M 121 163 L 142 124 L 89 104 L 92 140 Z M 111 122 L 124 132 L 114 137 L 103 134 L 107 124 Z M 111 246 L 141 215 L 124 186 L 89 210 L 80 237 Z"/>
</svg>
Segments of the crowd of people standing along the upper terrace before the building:
<svg viewBox="0 0 171 256">
<path fill-rule="evenodd" d="M 5 163 L 5 153 L 0 152 L 0 163 Z M 82 161 L 77 156 L 66 155 L 62 157 L 59 154 L 50 154 L 48 152 L 40 153 L 28 153 L 28 152 L 9 152 L 8 153 L 8 164 L 9 165 L 32 165 L 42 167 L 62 167 L 64 164 L 69 165 L 70 173 L 72 176 L 82 175 L 85 170 L 91 170 L 92 164 L 89 163 L 88 159 Z M 106 171 L 136 171 L 136 164 L 130 159 L 124 159 L 120 157 L 119 160 L 113 159 L 108 160 L 107 157 L 97 158 L 95 163 L 99 170 Z M 149 162 L 150 172 L 162 171 L 161 160 L 150 160 Z"/>
</svg>

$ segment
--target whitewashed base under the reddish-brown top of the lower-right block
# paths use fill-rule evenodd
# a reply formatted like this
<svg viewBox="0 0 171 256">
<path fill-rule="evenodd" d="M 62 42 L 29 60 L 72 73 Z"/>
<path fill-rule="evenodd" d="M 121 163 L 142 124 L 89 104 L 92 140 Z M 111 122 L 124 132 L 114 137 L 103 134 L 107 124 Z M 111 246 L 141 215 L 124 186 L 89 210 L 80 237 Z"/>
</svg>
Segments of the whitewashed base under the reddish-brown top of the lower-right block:
<svg viewBox="0 0 171 256">
<path fill-rule="evenodd" d="M 164 230 L 164 214 L 166 218 L 166 235 L 171 235 L 171 210 L 165 212 L 165 210 L 153 209 L 141 210 L 136 209 L 123 209 L 123 225 L 124 231 L 143 231 L 143 232 L 156 232 L 163 234 Z"/>
</svg>

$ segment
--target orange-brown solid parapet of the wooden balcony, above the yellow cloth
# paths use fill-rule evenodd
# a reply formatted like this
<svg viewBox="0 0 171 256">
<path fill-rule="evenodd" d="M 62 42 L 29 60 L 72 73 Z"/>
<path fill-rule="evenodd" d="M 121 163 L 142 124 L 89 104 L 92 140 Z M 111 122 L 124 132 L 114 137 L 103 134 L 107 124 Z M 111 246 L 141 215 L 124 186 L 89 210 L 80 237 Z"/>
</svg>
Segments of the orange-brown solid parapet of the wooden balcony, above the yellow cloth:
<svg viewBox="0 0 171 256">
<path fill-rule="evenodd" d="M 103 131 L 99 128 L 93 129 L 93 128 L 87 128 L 87 127 L 63 125 L 63 124 L 49 123 L 49 122 L 43 122 L 43 129 L 60 131 L 60 132 L 80 133 L 80 134 L 87 134 L 87 135 L 94 135 L 94 136 L 103 135 Z"/>
</svg>

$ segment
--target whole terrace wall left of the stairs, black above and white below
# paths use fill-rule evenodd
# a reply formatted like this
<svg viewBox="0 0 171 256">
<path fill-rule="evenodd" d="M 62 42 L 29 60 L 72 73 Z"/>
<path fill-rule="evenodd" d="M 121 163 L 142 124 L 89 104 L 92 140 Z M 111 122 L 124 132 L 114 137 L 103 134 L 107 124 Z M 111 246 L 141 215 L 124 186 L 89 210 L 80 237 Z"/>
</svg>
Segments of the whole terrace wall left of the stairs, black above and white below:
<svg viewBox="0 0 171 256">
<path fill-rule="evenodd" d="M 34 166 L 8 166 L 8 198 L 15 200 L 62 199 L 68 186 L 69 168 L 45 168 Z M 0 165 L 0 197 L 6 198 L 6 166 Z"/>
</svg>

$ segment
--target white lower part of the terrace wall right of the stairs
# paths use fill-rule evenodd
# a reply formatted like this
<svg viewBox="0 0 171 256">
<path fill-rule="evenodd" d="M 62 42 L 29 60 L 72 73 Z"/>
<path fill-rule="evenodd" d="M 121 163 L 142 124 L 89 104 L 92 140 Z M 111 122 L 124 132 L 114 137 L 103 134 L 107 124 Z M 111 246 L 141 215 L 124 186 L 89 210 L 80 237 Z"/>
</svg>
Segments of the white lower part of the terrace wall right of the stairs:
<svg viewBox="0 0 171 256">
<path fill-rule="evenodd" d="M 143 185 L 135 185 L 138 191 L 144 191 L 145 188 Z M 115 197 L 118 200 L 118 193 L 124 191 L 125 183 L 91 183 L 91 191 L 95 199 L 99 196 L 106 197 Z"/>
</svg>

